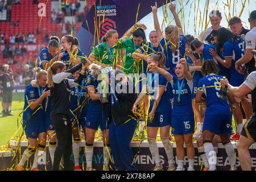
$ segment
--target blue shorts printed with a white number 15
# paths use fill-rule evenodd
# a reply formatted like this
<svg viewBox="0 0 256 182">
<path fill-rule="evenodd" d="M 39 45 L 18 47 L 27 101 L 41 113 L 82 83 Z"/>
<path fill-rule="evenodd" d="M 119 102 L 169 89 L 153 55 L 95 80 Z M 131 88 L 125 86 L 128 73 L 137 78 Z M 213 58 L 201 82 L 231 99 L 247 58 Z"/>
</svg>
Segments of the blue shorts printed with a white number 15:
<svg viewBox="0 0 256 182">
<path fill-rule="evenodd" d="M 194 115 L 172 115 L 171 126 L 174 135 L 193 133 L 195 130 Z"/>
</svg>

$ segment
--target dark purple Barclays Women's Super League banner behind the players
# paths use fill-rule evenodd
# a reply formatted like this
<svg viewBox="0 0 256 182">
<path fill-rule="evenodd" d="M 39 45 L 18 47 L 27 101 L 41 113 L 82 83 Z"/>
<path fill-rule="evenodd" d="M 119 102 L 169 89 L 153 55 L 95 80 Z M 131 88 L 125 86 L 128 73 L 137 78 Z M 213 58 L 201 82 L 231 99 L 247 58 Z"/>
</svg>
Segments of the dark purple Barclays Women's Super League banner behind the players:
<svg viewBox="0 0 256 182">
<path fill-rule="evenodd" d="M 102 36 L 110 29 L 117 30 L 121 37 L 136 20 L 138 22 L 151 13 L 151 6 L 155 5 L 155 2 L 160 7 L 170 0 L 96 0 L 77 34 L 81 51 L 89 55 L 92 46 L 97 46 Z"/>
</svg>

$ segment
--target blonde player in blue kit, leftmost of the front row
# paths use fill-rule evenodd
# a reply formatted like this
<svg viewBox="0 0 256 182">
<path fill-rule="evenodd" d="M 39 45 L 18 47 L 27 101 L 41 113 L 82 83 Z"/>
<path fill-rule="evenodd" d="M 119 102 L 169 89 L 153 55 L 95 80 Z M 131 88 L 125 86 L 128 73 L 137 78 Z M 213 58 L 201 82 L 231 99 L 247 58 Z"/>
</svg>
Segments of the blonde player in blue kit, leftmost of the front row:
<svg viewBox="0 0 256 182">
<path fill-rule="evenodd" d="M 31 84 L 27 86 L 24 99 L 23 128 L 28 138 L 29 146 L 23 152 L 17 170 L 23 171 L 25 162 L 35 153 L 32 170 L 38 171 L 38 151 L 44 151 L 46 147 L 46 127 L 44 123 L 45 101 L 50 94 L 46 91 L 47 72 L 37 70 L 36 81 L 38 87 Z M 37 150 L 36 150 L 37 149 Z M 35 166 L 36 165 L 36 166 Z"/>
</svg>

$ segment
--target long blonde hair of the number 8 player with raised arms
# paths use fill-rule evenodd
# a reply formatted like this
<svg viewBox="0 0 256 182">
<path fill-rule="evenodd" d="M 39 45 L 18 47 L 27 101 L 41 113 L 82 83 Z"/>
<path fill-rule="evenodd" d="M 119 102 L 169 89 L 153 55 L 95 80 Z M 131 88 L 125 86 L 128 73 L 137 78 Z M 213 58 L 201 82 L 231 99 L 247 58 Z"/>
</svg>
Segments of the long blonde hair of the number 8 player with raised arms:
<svg viewBox="0 0 256 182">
<path fill-rule="evenodd" d="M 180 47 L 179 28 L 174 25 L 169 25 L 164 31 L 166 34 L 170 34 L 168 43 L 172 44 L 172 52 L 175 52 Z"/>
</svg>

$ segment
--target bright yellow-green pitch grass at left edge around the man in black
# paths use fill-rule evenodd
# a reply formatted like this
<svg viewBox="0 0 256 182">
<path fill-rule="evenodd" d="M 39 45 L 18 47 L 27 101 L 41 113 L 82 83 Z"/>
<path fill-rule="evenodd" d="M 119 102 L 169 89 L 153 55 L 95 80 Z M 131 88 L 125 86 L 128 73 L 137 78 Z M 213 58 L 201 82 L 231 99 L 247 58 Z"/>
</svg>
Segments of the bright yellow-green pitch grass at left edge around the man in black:
<svg viewBox="0 0 256 182">
<path fill-rule="evenodd" d="M 7 144 L 10 138 L 13 137 L 15 131 L 18 129 L 17 119 L 19 113 L 23 110 L 24 94 L 13 94 L 13 116 L 2 117 L 2 104 L 0 104 L 0 146 Z M 2 98 L 0 99 L 2 101 Z M 20 102 L 21 101 L 21 102 Z M 19 126 L 22 118 L 19 117 Z M 21 133 L 22 129 L 20 130 Z M 16 135 L 19 135 L 18 133 Z"/>
</svg>

